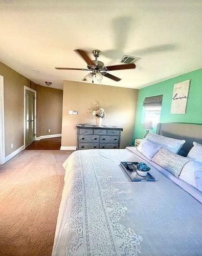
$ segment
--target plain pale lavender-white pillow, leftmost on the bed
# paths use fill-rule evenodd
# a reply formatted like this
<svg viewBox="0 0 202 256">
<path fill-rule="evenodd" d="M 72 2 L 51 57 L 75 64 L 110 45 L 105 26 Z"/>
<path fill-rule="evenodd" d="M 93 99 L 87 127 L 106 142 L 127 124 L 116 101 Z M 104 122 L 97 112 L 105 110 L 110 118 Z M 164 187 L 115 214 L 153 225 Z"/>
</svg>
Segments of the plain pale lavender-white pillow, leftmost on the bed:
<svg viewBox="0 0 202 256">
<path fill-rule="evenodd" d="M 162 146 L 155 145 L 146 139 L 143 139 L 137 147 L 137 150 L 140 151 L 146 158 L 151 160 L 151 158 L 160 150 L 161 147 Z"/>
</svg>

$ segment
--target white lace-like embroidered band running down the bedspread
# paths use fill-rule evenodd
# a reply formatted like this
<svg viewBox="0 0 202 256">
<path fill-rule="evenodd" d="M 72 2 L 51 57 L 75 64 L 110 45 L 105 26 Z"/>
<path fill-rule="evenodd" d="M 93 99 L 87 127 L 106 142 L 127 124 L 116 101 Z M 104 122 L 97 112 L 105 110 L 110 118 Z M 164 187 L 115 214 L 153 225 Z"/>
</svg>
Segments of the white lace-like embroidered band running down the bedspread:
<svg viewBox="0 0 202 256">
<path fill-rule="evenodd" d="M 70 237 L 63 255 L 137 255 L 143 239 L 122 224 L 127 208 L 113 199 L 118 189 L 108 184 L 103 159 L 89 152 L 75 152 L 64 163 L 72 179 L 65 206 L 70 210 L 61 227 Z"/>
</svg>

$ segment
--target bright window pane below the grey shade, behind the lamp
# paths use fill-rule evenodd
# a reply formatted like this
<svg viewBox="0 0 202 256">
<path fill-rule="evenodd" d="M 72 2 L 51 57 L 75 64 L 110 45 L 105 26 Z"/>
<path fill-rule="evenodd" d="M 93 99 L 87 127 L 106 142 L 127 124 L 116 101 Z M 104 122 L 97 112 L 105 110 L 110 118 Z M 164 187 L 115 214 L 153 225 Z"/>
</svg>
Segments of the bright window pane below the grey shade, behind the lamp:
<svg viewBox="0 0 202 256">
<path fill-rule="evenodd" d="M 144 122 L 152 121 L 153 125 L 160 122 L 161 106 L 145 106 Z"/>
</svg>

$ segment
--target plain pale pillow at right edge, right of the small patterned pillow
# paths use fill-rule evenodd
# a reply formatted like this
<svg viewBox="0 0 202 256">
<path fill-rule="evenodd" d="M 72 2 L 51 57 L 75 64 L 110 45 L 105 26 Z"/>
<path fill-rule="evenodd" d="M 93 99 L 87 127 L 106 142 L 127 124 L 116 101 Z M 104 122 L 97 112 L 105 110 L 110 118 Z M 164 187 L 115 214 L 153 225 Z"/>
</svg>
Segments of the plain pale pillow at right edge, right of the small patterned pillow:
<svg viewBox="0 0 202 256">
<path fill-rule="evenodd" d="M 191 186 L 197 188 L 200 190 L 199 185 L 201 184 L 201 181 L 199 181 L 199 174 L 202 173 L 202 163 L 196 162 L 196 161 L 189 161 L 185 164 L 185 166 L 182 169 L 181 174 L 179 175 L 179 179 L 184 180 Z M 201 190 L 200 190 L 201 191 Z"/>
</svg>

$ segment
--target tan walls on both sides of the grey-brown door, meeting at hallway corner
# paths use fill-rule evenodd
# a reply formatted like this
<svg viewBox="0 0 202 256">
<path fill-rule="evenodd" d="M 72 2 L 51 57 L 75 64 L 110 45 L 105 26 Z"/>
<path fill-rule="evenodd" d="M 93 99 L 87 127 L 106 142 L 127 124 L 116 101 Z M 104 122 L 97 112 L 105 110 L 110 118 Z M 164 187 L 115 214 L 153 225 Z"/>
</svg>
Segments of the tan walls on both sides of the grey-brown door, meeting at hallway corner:
<svg viewBox="0 0 202 256">
<path fill-rule="evenodd" d="M 4 77 L 6 156 L 24 145 L 24 86 L 36 90 L 39 96 L 37 105 L 39 135 L 61 133 L 62 90 L 41 87 L 2 62 L 0 62 L 0 75 Z M 40 123 L 43 129 L 40 129 Z M 48 127 L 51 133 L 48 133 Z"/>
</svg>

